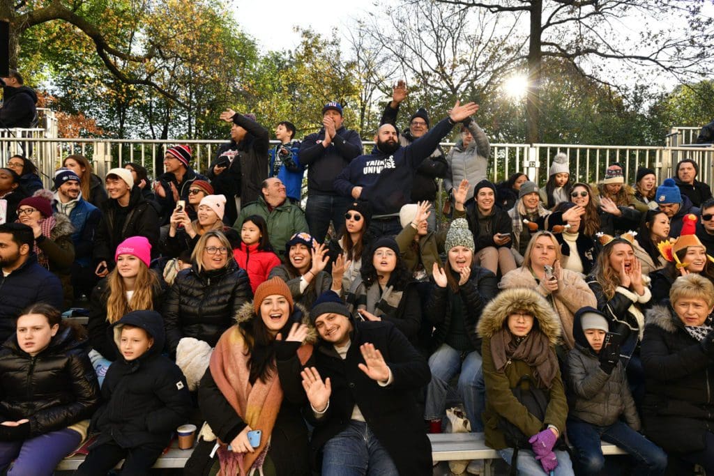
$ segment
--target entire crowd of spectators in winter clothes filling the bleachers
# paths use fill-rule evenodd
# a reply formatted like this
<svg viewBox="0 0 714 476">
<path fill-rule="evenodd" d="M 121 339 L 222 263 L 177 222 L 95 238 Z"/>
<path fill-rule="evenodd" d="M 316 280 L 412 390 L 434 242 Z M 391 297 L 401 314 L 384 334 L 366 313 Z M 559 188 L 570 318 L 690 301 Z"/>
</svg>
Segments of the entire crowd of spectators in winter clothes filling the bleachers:
<svg viewBox="0 0 714 476">
<path fill-rule="evenodd" d="M 478 105 L 433 124 L 418 108 L 400 131 L 406 94 L 367 154 L 330 102 L 303 141 L 278 123 L 274 148 L 255 116 L 221 113 L 231 141 L 205 175 L 183 144 L 153 180 L 71 155 L 50 191 L 10 158 L 0 470 L 49 475 L 93 435 L 76 474 L 124 458 L 144 474 L 190 421 L 186 474 L 431 475 L 426 433 L 456 401 L 520 474 L 600 474 L 600 440 L 633 474 L 714 474 L 714 198 L 698 163 L 640 167 L 632 186 L 612 163 L 584 183 L 558 153 L 542 186 L 493 183 Z M 78 307 L 86 328 L 60 317 Z"/>
</svg>

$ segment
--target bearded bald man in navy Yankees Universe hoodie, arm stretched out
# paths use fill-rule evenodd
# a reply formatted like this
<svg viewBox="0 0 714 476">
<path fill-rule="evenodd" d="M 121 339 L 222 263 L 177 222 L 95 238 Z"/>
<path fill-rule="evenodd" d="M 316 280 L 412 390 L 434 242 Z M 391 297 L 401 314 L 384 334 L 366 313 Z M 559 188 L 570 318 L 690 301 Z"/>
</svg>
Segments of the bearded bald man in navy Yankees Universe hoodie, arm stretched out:
<svg viewBox="0 0 714 476">
<path fill-rule="evenodd" d="M 476 103 L 463 106 L 456 101 L 449 116 L 408 146 L 398 142 L 391 124 L 379 127 L 376 147 L 368 156 L 354 159 L 335 179 L 336 191 L 346 197 L 367 201 L 372 210 L 369 231 L 375 238 L 401 231 L 399 211 L 411 201 L 414 173 L 424 159 L 456 123 L 478 111 Z"/>
</svg>

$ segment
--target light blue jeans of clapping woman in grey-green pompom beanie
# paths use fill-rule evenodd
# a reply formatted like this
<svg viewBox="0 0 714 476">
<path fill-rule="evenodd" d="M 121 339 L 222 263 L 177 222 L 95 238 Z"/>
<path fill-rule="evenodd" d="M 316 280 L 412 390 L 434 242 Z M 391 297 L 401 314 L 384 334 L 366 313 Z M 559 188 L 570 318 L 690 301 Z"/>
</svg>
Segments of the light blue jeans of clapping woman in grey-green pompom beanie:
<svg viewBox="0 0 714 476">
<path fill-rule="evenodd" d="M 443 418 L 446 411 L 448 383 L 459 370 L 456 390 L 463 402 L 466 417 L 471 422 L 471 431 L 483 432 L 481 414 L 486 406 L 486 387 L 483 383 L 481 355 L 476 352 L 462 353 L 447 344 L 442 344 L 429 358 L 431 382 L 426 388 L 425 420 Z"/>
</svg>

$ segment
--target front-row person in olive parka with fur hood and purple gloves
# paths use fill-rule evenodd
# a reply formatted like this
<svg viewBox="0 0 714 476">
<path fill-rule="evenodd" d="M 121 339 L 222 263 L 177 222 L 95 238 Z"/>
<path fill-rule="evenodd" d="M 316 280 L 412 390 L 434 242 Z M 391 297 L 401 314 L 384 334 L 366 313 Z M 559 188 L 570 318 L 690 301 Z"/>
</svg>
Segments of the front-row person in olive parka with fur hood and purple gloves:
<svg viewBox="0 0 714 476">
<path fill-rule="evenodd" d="M 478 321 L 486 382 L 486 445 L 516 465 L 520 475 L 543 475 L 543 471 L 554 471 L 556 476 L 573 475 L 568 452 L 558 449 L 568 416 L 555 356 L 560 327 L 560 320 L 545 298 L 523 288 L 497 295 Z M 530 380 L 531 393 L 540 393 L 548 401 L 542 419 L 535 417 L 513 393 L 516 388 L 523 390 L 523 379 Z M 514 449 L 516 445 L 506 437 L 506 427 L 518 430 L 531 447 Z"/>
</svg>

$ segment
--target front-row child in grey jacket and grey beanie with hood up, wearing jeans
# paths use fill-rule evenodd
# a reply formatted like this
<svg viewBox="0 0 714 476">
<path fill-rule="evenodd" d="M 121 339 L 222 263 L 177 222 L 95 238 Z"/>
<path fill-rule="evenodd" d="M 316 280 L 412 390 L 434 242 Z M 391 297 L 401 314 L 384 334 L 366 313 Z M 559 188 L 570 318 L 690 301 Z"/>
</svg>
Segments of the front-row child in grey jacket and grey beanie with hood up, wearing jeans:
<svg viewBox="0 0 714 476">
<path fill-rule="evenodd" d="M 566 423 L 575 446 L 575 472 L 600 474 L 605 466 L 602 439 L 633 456 L 633 474 L 662 475 L 667 455 L 639 433 L 640 417 L 620 362 L 620 344 L 613 339 L 605 345 L 607 334 L 608 320 L 600 311 L 586 307 L 575 313 L 575 348 L 568 353 L 574 405 Z"/>
</svg>

